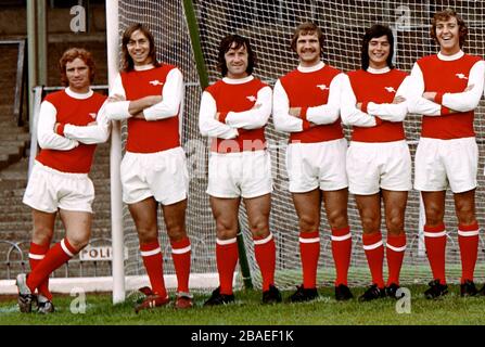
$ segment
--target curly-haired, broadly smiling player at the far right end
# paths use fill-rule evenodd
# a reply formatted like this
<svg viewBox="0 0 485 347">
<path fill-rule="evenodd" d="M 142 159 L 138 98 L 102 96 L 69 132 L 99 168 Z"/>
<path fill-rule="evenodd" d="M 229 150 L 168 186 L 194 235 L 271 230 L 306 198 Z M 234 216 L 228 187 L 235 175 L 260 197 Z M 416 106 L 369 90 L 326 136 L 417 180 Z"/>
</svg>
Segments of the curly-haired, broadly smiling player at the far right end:
<svg viewBox="0 0 485 347">
<path fill-rule="evenodd" d="M 425 209 L 424 242 L 433 281 L 426 298 L 448 293 L 445 271 L 446 189 L 454 193 L 461 255 L 461 296 L 477 290 L 473 274 L 477 258 L 478 223 L 475 189 L 478 147 L 473 129 L 474 110 L 484 86 L 484 61 L 463 53 L 468 36 L 463 20 L 451 9 L 433 16 L 431 36 L 437 54 L 420 59 L 411 72 L 409 112 L 421 114 L 421 139 L 416 152 L 414 188 L 421 191 Z M 480 291 L 485 294 L 484 288 Z"/>
</svg>

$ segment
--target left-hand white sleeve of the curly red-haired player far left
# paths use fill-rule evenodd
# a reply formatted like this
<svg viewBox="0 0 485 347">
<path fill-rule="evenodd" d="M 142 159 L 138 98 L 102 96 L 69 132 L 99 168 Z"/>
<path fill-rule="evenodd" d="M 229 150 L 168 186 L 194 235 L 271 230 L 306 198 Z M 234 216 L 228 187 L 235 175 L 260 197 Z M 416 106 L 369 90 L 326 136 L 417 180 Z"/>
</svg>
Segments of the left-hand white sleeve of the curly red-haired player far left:
<svg viewBox="0 0 485 347">
<path fill-rule="evenodd" d="M 37 121 L 37 141 L 43 150 L 69 151 L 79 145 L 76 140 L 71 140 L 54 132 L 58 110 L 49 101 L 40 105 L 39 119 Z"/>
</svg>

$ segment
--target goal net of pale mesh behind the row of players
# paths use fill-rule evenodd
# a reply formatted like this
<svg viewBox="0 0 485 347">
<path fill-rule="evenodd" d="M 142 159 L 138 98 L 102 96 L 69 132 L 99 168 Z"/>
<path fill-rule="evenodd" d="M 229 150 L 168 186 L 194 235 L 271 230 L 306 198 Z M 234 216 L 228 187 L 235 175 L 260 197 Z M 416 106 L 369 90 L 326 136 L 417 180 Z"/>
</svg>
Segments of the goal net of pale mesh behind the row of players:
<svg viewBox="0 0 485 347">
<path fill-rule="evenodd" d="M 238 33 L 251 39 L 257 56 L 254 75 L 273 86 L 276 80 L 295 68 L 297 56 L 290 49 L 294 28 L 304 21 L 316 22 L 323 30 L 326 41 L 323 60 L 343 72 L 359 68 L 360 42 L 365 28 L 374 23 L 391 26 L 395 33 L 395 63 L 400 69 L 410 72 L 417 59 L 437 52 L 437 46 L 430 38 L 429 28 L 434 12 L 452 7 L 469 26 L 465 43 L 467 53 L 485 54 L 485 2 L 484 1 L 278 1 L 278 0 L 197 0 L 194 1 L 202 50 L 208 69 L 209 80 L 220 78 L 216 69 L 217 47 L 229 33 Z M 192 241 L 192 272 L 214 273 L 215 223 L 205 193 L 207 185 L 207 140 L 197 128 L 201 88 L 196 75 L 193 51 L 189 38 L 182 1 L 119 1 L 119 34 L 130 24 L 141 22 L 154 33 L 158 44 L 158 57 L 178 65 L 186 80 L 184 112 L 182 116 L 182 143 L 189 159 L 191 175 L 188 232 Z M 476 193 L 478 223 L 485 226 L 484 194 L 484 103 L 476 110 L 475 130 L 480 146 L 478 189 Z M 420 117 L 409 115 L 405 120 L 406 134 L 412 156 L 420 133 Z M 126 129 L 124 129 L 126 132 Z M 345 130 L 348 139 L 348 129 Z M 289 288 L 302 281 L 298 250 L 298 226 L 291 195 L 288 192 L 288 176 L 284 156 L 288 136 L 277 132 L 270 119 L 266 128 L 272 159 L 275 192 L 270 228 L 277 242 L 277 285 Z M 353 233 L 353 254 L 349 271 L 350 285 L 370 282 L 370 273 L 361 244 L 361 228 L 354 197 L 350 196 L 348 215 Z M 248 232 L 244 208 L 240 213 L 253 283 L 260 285 L 253 242 Z M 169 242 L 161 219 L 161 242 L 165 246 L 164 266 L 166 273 L 174 273 Z M 458 282 L 461 273 L 457 236 L 457 219 L 452 195 L 446 200 L 447 278 Z M 411 191 L 406 213 L 408 246 L 401 272 L 403 283 L 424 283 L 431 280 L 427 259 L 420 229 L 420 200 Z M 386 230 L 382 224 L 385 242 Z M 125 208 L 126 246 L 130 257 L 126 264 L 127 274 L 144 273 L 138 252 L 138 237 L 133 223 Z M 331 255 L 330 228 L 322 209 L 320 227 L 321 254 L 318 268 L 318 285 L 333 285 L 334 266 Z M 481 230 L 478 264 L 475 271 L 477 281 L 485 277 L 484 239 Z M 384 266 L 384 269 L 386 266 Z M 241 279 L 238 281 L 241 285 Z"/>
</svg>

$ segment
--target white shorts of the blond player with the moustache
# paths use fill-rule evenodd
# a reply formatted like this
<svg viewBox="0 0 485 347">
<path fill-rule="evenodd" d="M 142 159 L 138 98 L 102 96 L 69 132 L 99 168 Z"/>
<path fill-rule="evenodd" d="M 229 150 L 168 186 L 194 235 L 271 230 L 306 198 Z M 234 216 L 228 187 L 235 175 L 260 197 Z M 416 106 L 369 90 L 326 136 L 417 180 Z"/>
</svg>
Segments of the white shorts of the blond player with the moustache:
<svg viewBox="0 0 485 347">
<path fill-rule="evenodd" d="M 347 188 L 346 153 L 345 139 L 290 143 L 286 149 L 290 192 L 305 193 L 316 188 L 322 191 L 336 191 Z"/>
</svg>

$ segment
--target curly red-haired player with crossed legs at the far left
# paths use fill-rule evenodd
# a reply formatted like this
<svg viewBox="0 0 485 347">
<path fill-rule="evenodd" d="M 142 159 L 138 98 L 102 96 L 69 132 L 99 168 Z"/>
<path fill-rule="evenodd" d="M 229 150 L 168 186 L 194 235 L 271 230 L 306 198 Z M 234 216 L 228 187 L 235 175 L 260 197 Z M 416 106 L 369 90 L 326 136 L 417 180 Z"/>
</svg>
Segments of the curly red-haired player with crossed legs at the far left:
<svg viewBox="0 0 485 347">
<path fill-rule="evenodd" d="M 105 142 L 111 129 L 102 107 L 106 98 L 90 88 L 95 75 L 91 54 L 68 49 L 60 69 L 67 87 L 47 95 L 40 105 L 37 133 L 41 150 L 23 200 L 33 208 L 34 231 L 28 254 L 31 271 L 16 279 L 21 312 L 30 312 L 33 301 L 38 312 L 54 311 L 49 275 L 89 242 L 94 187 L 88 174 L 95 144 Z M 49 248 L 58 213 L 65 237 Z"/>
</svg>

